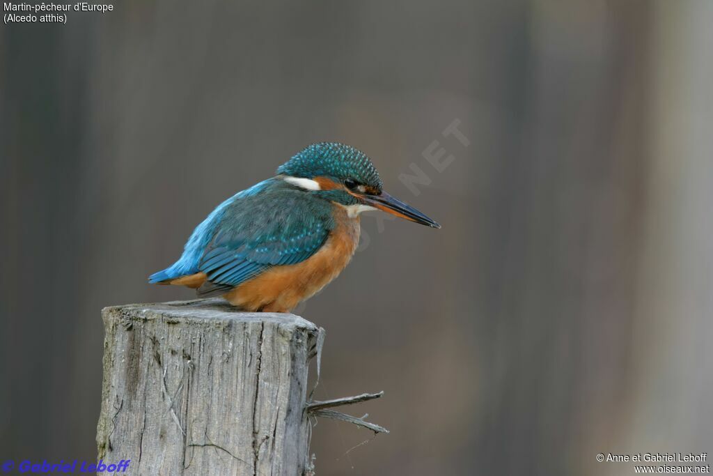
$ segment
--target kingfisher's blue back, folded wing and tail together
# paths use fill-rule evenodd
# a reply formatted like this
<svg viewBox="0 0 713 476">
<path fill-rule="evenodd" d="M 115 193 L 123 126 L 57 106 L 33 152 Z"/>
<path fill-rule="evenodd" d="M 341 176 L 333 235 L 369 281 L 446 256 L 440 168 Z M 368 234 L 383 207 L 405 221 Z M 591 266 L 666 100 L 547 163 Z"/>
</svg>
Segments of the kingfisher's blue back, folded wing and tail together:
<svg viewBox="0 0 713 476">
<path fill-rule="evenodd" d="M 275 265 L 313 255 L 334 229 L 332 205 L 277 178 L 238 193 L 195 228 L 183 255 L 150 283 L 205 273 L 198 295 L 226 293 Z"/>
</svg>

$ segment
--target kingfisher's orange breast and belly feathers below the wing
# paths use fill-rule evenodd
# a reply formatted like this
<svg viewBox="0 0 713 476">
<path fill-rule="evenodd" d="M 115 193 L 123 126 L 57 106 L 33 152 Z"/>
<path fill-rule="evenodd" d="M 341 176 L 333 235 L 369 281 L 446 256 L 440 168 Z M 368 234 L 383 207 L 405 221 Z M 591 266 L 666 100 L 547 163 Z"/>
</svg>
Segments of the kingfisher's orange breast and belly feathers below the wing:
<svg viewBox="0 0 713 476">
<path fill-rule="evenodd" d="M 301 263 L 275 266 L 238 285 L 225 295 L 242 309 L 289 312 L 300 301 L 319 292 L 349 264 L 359 244 L 359 216 L 333 207 L 334 229 L 322 248 Z"/>
</svg>

